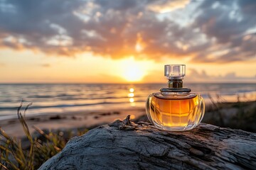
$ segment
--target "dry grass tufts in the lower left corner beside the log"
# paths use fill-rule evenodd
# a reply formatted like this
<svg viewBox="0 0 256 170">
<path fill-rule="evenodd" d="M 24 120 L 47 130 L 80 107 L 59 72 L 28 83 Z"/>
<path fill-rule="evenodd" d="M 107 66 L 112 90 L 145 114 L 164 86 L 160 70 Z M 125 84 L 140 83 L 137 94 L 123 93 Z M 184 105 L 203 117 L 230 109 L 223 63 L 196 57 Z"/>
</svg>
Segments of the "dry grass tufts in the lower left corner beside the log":
<svg viewBox="0 0 256 170">
<path fill-rule="evenodd" d="M 10 137 L 0 127 L 0 169 L 38 169 L 43 162 L 58 154 L 71 137 L 82 135 L 87 130 L 78 130 L 75 134 L 70 130 L 67 132 L 43 132 L 39 128 L 33 127 L 38 133 L 38 137 L 33 137 L 25 120 L 26 111 L 32 105 L 28 104 L 21 113 L 22 102 L 18 107 L 17 115 L 28 144 L 24 147 L 21 140 Z M 65 136 L 64 136 L 65 133 Z"/>
</svg>

